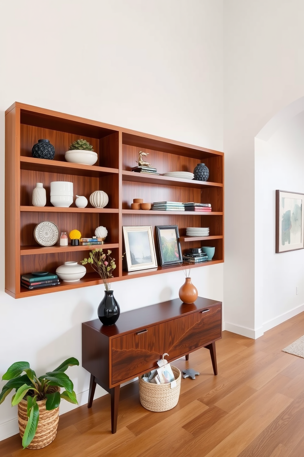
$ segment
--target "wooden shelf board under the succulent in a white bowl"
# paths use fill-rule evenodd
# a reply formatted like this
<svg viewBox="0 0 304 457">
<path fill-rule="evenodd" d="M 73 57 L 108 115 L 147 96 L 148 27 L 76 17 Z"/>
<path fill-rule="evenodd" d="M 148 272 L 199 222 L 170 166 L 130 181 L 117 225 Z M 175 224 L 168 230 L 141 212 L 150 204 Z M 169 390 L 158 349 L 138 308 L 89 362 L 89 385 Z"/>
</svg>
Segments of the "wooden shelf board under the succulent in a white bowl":
<svg viewBox="0 0 304 457">
<path fill-rule="evenodd" d="M 98 167 L 95 165 L 73 164 L 60 160 L 36 159 L 34 157 L 20 157 L 21 170 L 41 171 L 44 173 L 63 173 L 66 175 L 99 177 L 109 174 L 118 174 L 118 169 Z"/>
</svg>

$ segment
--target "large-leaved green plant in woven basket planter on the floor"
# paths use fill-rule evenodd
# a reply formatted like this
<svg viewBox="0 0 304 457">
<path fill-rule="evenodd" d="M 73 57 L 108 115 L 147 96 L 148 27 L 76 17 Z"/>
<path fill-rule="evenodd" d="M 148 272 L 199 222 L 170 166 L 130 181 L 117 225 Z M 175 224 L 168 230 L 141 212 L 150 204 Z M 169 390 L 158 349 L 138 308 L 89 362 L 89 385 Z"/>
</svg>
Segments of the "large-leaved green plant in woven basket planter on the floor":
<svg viewBox="0 0 304 457">
<path fill-rule="evenodd" d="M 18 405 L 23 449 L 40 449 L 55 439 L 61 399 L 78 404 L 73 383 L 65 373 L 73 365 L 79 365 L 79 361 L 70 357 L 52 372 L 37 377 L 29 362 L 15 362 L 2 376 L 8 382 L 0 393 L 0 404 L 15 389 L 11 404 Z M 65 389 L 62 393 L 61 387 Z"/>
</svg>

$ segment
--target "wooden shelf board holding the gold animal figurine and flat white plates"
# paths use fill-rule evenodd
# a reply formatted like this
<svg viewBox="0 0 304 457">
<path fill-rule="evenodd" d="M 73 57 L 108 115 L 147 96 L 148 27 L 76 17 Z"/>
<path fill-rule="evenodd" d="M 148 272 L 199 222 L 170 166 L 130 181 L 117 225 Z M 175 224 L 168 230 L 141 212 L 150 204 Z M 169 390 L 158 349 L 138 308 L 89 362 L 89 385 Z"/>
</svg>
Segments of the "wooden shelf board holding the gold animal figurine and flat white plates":
<svg viewBox="0 0 304 457">
<path fill-rule="evenodd" d="M 218 182 L 208 181 L 195 181 L 191 179 L 176 179 L 170 176 L 153 175 L 151 173 L 136 173 L 134 171 L 123 170 L 123 181 L 142 182 L 147 184 L 157 184 L 163 186 L 177 186 L 177 187 L 192 187 L 192 188 L 206 188 L 206 187 L 223 187 Z"/>
</svg>

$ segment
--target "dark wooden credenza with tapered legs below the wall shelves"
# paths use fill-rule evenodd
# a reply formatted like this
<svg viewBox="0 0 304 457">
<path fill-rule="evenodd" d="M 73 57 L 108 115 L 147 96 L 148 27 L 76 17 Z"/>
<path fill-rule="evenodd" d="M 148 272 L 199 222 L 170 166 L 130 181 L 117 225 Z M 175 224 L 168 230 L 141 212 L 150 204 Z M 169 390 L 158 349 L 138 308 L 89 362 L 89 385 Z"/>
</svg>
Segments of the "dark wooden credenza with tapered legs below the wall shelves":
<svg viewBox="0 0 304 457">
<path fill-rule="evenodd" d="M 120 384 L 168 361 L 206 347 L 217 374 L 215 341 L 222 338 L 222 302 L 198 297 L 185 304 L 179 298 L 122 313 L 116 324 L 95 319 L 82 324 L 82 367 L 91 373 L 88 408 L 96 384 L 111 393 L 112 433 L 116 432 Z"/>
</svg>

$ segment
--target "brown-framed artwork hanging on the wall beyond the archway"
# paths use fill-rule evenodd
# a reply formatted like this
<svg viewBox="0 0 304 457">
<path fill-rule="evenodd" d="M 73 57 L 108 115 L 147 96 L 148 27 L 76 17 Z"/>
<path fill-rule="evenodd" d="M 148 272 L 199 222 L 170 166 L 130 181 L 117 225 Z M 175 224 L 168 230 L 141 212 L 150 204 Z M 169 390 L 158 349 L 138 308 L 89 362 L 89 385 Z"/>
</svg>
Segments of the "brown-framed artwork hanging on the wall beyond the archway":
<svg viewBox="0 0 304 457">
<path fill-rule="evenodd" d="M 276 190 L 275 252 L 304 249 L 304 194 Z"/>
</svg>

